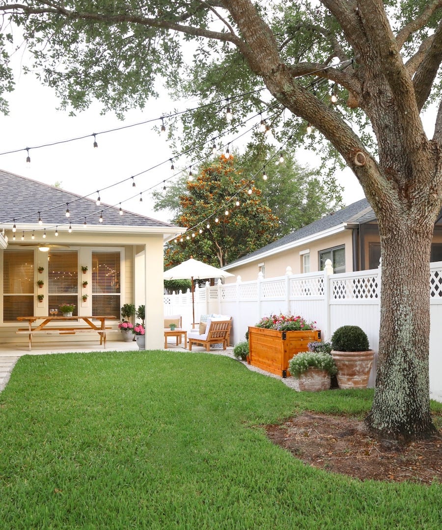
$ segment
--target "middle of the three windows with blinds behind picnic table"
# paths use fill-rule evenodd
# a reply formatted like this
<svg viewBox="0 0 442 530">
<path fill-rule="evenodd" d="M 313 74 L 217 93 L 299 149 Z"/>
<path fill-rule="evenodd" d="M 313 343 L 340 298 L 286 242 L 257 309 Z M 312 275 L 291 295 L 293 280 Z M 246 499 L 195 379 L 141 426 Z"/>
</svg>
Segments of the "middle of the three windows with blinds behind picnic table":
<svg viewBox="0 0 442 530">
<path fill-rule="evenodd" d="M 79 264 L 76 250 L 55 250 L 48 261 L 48 304 L 59 309 L 62 304 L 73 304 L 73 315 L 78 314 Z"/>
</svg>

